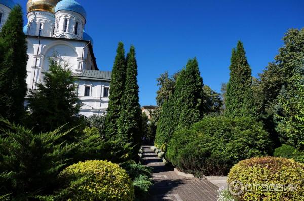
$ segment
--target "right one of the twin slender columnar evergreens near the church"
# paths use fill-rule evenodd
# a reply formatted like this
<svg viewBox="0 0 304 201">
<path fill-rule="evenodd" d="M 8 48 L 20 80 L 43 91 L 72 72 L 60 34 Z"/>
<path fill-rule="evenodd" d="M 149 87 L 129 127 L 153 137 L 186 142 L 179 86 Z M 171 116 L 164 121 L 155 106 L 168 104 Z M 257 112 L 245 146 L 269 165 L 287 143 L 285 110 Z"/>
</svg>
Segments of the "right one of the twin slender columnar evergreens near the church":
<svg viewBox="0 0 304 201">
<path fill-rule="evenodd" d="M 141 142 L 141 110 L 138 97 L 139 87 L 137 84 L 137 62 L 134 46 L 131 46 L 126 61 L 126 82 L 121 100 L 123 107 L 118 119 L 118 136 L 124 142 L 130 142 L 138 147 Z M 134 150 L 137 151 L 138 149 Z"/>
</svg>

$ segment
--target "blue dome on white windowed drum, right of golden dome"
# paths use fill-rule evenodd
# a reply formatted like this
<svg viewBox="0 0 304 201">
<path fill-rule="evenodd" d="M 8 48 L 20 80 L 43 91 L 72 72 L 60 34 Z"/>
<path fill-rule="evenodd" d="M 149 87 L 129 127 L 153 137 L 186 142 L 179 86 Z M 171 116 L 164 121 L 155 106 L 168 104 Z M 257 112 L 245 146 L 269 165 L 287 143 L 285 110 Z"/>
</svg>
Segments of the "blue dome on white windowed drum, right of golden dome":
<svg viewBox="0 0 304 201">
<path fill-rule="evenodd" d="M 62 10 L 74 11 L 74 12 L 82 15 L 84 18 L 87 17 L 87 12 L 84 9 L 84 7 L 82 5 L 80 5 L 78 2 L 76 2 L 75 0 L 62 0 L 62 1 L 58 2 L 58 4 L 55 7 L 55 12 L 62 11 Z"/>
</svg>

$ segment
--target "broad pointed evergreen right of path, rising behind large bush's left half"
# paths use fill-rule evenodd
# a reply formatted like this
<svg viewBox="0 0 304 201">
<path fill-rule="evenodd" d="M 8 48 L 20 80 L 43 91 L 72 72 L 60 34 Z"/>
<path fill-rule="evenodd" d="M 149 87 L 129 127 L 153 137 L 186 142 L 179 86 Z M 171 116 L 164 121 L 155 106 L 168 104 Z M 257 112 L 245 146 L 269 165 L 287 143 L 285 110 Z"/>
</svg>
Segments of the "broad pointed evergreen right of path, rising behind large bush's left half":
<svg viewBox="0 0 304 201">
<path fill-rule="evenodd" d="M 174 91 L 174 119 L 178 129 L 189 128 L 203 117 L 203 79 L 197 59 L 180 72 Z"/>
</svg>

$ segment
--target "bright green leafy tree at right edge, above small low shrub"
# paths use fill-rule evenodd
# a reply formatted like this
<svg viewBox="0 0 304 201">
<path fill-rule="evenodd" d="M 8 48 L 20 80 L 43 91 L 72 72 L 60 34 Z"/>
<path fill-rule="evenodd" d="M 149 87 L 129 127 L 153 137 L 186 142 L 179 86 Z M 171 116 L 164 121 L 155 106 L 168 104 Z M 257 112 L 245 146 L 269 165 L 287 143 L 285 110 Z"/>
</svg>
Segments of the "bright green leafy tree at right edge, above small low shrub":
<svg viewBox="0 0 304 201">
<path fill-rule="evenodd" d="M 304 150 L 304 75 L 295 75 L 290 79 L 286 95 L 279 95 L 278 102 L 283 115 L 278 131 L 288 138 L 287 142 L 298 150 Z"/>
</svg>

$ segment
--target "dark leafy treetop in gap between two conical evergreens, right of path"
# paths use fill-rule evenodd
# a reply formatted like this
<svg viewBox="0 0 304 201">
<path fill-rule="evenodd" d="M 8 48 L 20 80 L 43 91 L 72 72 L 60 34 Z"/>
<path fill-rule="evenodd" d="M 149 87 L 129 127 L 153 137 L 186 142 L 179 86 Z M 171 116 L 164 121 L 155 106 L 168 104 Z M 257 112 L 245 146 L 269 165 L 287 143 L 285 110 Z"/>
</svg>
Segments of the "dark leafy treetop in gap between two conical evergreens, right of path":
<svg viewBox="0 0 304 201">
<path fill-rule="evenodd" d="M 204 113 L 220 113 L 223 105 L 220 94 L 207 85 L 203 86 L 203 92 Z"/>
</svg>

